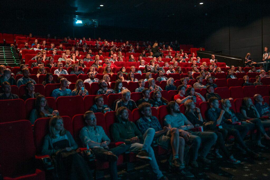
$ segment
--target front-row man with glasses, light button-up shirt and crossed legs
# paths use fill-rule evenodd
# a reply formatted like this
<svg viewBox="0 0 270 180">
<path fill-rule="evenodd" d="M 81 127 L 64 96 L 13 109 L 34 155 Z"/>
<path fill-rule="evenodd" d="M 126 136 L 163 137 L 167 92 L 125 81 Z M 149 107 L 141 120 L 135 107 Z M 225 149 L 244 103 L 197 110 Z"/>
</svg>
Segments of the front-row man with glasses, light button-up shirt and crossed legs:
<svg viewBox="0 0 270 180">
<path fill-rule="evenodd" d="M 109 161 L 110 177 L 111 179 L 118 179 L 117 177 L 117 159 L 118 155 L 126 152 L 127 145 L 121 144 L 115 148 L 109 148 L 109 137 L 101 126 L 97 126 L 97 118 L 93 111 L 87 111 L 83 115 L 87 126 L 80 131 L 80 140 L 84 147 L 91 148 L 96 159 L 102 162 Z"/>
</svg>

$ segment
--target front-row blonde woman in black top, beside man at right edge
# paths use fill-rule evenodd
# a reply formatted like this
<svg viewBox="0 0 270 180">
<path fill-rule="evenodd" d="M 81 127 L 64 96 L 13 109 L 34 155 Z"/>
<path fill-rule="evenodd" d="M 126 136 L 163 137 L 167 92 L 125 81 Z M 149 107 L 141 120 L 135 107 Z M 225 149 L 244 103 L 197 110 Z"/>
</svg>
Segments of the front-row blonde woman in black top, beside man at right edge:
<svg viewBox="0 0 270 180">
<path fill-rule="evenodd" d="M 226 106 L 225 106 L 226 107 Z M 270 140 L 270 137 L 266 134 L 264 128 L 265 127 L 270 127 L 270 122 L 269 121 L 261 121 L 259 119 L 260 114 L 255 108 L 255 106 L 252 103 L 252 100 L 249 97 L 245 97 L 243 99 L 243 104 L 240 107 L 240 111 L 242 116 L 244 117 L 242 121 L 245 121 L 250 124 L 255 124 L 255 126 L 250 127 L 250 124 L 247 124 L 249 126 L 250 130 L 257 129 L 257 145 L 259 147 L 265 147 L 264 145 L 261 144 L 261 134 L 264 135 L 264 137 L 267 140 Z M 260 133 L 259 133 L 260 132 Z"/>
</svg>

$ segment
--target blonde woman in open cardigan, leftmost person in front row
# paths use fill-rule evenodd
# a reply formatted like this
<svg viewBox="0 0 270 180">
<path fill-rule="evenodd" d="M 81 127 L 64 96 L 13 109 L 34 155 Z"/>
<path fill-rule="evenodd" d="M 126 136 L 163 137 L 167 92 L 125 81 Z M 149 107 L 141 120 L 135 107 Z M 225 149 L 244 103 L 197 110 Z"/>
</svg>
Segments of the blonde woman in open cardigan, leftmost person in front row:
<svg viewBox="0 0 270 180">
<path fill-rule="evenodd" d="M 49 122 L 49 134 L 44 138 L 42 155 L 54 156 L 59 179 L 93 179 L 89 166 L 76 149 L 78 145 L 69 131 L 65 130 L 63 118 L 53 116 Z"/>
</svg>

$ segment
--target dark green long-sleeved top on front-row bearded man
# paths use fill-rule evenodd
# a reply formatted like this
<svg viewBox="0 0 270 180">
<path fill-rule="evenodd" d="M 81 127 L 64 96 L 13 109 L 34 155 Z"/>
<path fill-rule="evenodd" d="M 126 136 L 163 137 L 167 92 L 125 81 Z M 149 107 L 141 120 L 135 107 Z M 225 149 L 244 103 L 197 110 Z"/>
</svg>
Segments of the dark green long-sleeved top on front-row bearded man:
<svg viewBox="0 0 270 180">
<path fill-rule="evenodd" d="M 143 141 L 143 135 L 137 128 L 136 124 L 131 121 L 123 123 L 121 118 L 116 118 L 116 123 L 112 124 L 111 127 L 112 137 L 115 142 L 125 142 L 126 144 L 131 144 L 130 139 L 133 137 L 138 137 Z"/>
</svg>

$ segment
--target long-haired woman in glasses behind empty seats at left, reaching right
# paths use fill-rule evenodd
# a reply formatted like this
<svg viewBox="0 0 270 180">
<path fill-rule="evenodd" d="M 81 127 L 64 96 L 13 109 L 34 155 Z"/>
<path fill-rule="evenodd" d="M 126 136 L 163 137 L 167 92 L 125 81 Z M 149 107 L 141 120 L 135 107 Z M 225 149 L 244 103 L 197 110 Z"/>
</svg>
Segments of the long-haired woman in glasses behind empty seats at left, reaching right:
<svg viewBox="0 0 270 180">
<path fill-rule="evenodd" d="M 34 124 L 38 118 L 58 116 L 58 110 L 53 110 L 48 106 L 45 96 L 39 95 L 36 97 L 35 108 L 32 109 L 29 121 Z"/>
</svg>

